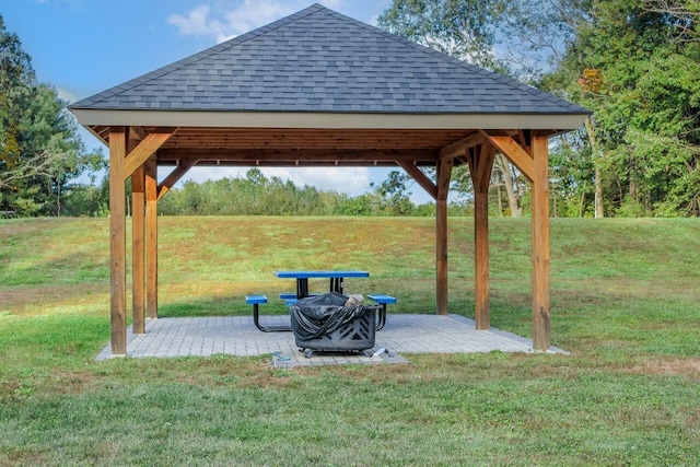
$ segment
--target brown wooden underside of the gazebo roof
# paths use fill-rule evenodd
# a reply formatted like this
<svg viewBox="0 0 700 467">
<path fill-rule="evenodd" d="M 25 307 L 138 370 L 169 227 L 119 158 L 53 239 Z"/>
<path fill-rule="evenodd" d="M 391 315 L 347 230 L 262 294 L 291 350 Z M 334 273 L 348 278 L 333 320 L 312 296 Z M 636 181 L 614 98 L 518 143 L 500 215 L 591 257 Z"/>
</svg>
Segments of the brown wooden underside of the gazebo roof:
<svg viewBox="0 0 700 467">
<path fill-rule="evenodd" d="M 93 131 L 105 142 L 113 127 Z M 472 135 L 470 130 L 374 130 L 296 128 L 155 128 L 175 131 L 159 149 L 161 165 L 222 166 L 396 166 L 400 162 L 434 166 L 440 150 Z"/>
</svg>

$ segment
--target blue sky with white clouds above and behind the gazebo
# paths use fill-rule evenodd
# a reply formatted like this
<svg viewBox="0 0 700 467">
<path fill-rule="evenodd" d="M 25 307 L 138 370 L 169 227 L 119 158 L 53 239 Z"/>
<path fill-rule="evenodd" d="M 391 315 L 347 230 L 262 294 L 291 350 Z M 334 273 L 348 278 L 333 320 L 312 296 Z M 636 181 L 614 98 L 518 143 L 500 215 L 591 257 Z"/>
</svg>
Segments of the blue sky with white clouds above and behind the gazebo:
<svg viewBox="0 0 700 467">
<path fill-rule="evenodd" d="M 39 81 L 69 103 L 153 71 L 223 40 L 320 3 L 376 25 L 392 0 L 0 0 L 5 28 L 16 33 Z M 103 144 L 85 130 L 88 148 Z M 103 147 L 104 148 L 104 147 Z M 105 148 L 106 150 L 106 148 Z M 240 176 L 247 168 L 195 167 L 183 179 Z M 266 167 L 267 176 L 357 196 L 389 168 Z M 163 178 L 166 174 L 159 173 Z M 342 179 L 342 187 L 338 180 Z M 182 183 L 182 182 L 180 182 Z M 430 197 L 409 187 L 415 202 Z"/>
</svg>

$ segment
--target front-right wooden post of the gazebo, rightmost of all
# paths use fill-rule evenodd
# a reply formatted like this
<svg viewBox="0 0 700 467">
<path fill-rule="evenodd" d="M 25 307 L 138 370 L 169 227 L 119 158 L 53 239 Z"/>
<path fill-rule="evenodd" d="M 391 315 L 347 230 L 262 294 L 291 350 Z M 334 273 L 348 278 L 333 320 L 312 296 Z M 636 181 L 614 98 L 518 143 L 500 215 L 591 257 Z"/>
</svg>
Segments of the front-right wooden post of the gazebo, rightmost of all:
<svg viewBox="0 0 700 467">
<path fill-rule="evenodd" d="M 549 150 L 547 133 L 534 131 L 533 173 L 533 347 L 549 350 Z"/>
</svg>

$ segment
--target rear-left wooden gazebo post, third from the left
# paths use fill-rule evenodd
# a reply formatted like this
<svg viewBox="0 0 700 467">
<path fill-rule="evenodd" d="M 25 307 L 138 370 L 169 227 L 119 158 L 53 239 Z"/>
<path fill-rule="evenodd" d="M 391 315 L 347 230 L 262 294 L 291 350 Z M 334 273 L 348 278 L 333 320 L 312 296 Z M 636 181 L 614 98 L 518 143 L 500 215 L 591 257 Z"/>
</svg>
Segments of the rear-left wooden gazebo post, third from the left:
<svg viewBox="0 0 700 467">
<path fill-rule="evenodd" d="M 155 156 L 145 162 L 145 313 L 158 317 L 158 168 Z"/>
</svg>

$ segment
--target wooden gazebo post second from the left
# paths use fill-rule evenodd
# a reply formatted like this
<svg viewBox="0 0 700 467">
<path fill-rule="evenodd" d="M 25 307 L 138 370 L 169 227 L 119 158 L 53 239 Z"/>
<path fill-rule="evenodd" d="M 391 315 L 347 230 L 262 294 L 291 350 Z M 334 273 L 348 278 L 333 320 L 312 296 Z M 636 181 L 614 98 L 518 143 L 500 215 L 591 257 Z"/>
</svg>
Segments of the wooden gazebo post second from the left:
<svg viewBox="0 0 700 467">
<path fill-rule="evenodd" d="M 131 175 L 131 277 L 132 277 L 132 329 L 133 334 L 145 332 L 145 166 L 141 165 Z"/>
</svg>

